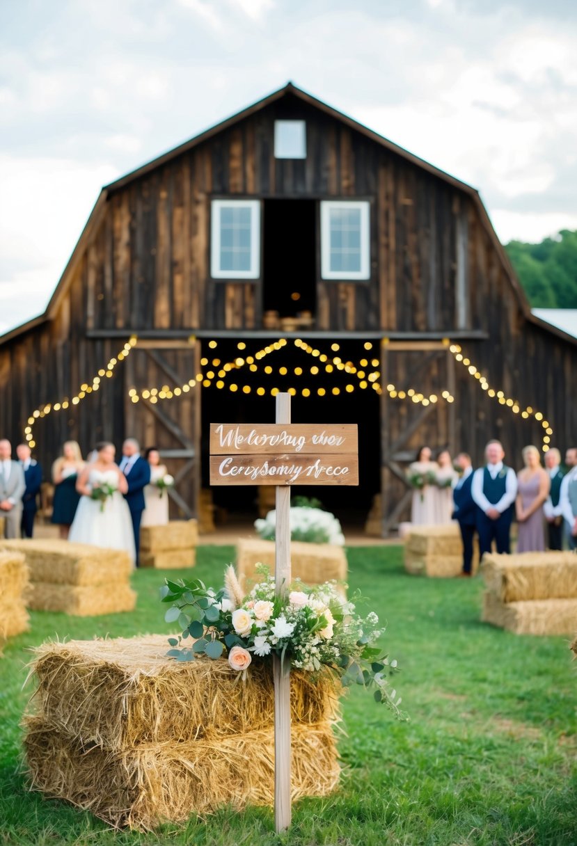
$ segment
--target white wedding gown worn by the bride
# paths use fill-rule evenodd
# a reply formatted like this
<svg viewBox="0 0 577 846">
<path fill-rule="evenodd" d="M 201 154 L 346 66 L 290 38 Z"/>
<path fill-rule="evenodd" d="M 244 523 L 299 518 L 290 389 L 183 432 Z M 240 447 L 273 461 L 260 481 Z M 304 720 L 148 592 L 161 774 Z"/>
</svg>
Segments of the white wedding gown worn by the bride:
<svg viewBox="0 0 577 846">
<path fill-rule="evenodd" d="M 88 486 L 102 484 L 118 485 L 118 471 L 91 470 L 88 476 Z M 73 543 L 89 543 L 94 547 L 106 549 L 124 549 L 131 560 L 136 558 L 135 533 L 128 503 L 123 495 L 116 491 L 112 497 L 107 497 L 104 508 L 100 500 L 91 497 L 80 497 L 76 509 L 74 522 L 70 526 L 69 541 Z"/>
</svg>

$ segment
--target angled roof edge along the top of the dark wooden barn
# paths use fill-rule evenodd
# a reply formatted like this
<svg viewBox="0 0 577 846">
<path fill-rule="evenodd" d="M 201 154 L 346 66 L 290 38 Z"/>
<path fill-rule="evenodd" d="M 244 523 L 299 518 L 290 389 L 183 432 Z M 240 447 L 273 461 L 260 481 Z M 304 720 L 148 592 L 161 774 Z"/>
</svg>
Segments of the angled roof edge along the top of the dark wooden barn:
<svg viewBox="0 0 577 846">
<path fill-rule="evenodd" d="M 161 168 L 164 164 L 172 161 L 176 157 L 181 156 L 184 152 L 194 149 L 195 146 L 202 144 L 206 140 L 210 140 L 213 136 L 217 135 L 220 132 L 223 132 L 223 130 L 234 126 L 234 124 L 238 124 L 239 121 L 250 117 L 250 115 L 260 112 L 262 109 L 266 108 L 274 102 L 277 102 L 278 100 L 281 100 L 285 96 L 294 96 L 300 101 L 305 102 L 307 105 L 317 108 L 319 111 L 329 115 L 332 118 L 335 118 L 342 124 L 349 126 L 349 128 L 353 129 L 355 132 L 359 132 L 361 135 L 365 135 L 365 137 L 375 141 L 376 144 L 385 147 L 388 151 L 395 153 L 396 155 L 404 158 L 406 161 L 411 162 L 416 167 L 426 170 L 428 173 L 431 173 L 438 179 L 442 179 L 443 181 L 452 185 L 454 188 L 461 190 L 465 194 L 469 195 L 472 201 L 474 202 L 475 206 L 477 207 L 477 210 L 479 211 L 481 217 L 481 222 L 483 222 L 483 225 L 486 228 L 486 232 L 492 240 L 492 244 L 495 250 L 497 250 L 501 261 L 503 262 L 503 266 L 507 271 L 508 277 L 515 290 L 515 293 L 517 294 L 517 297 L 519 299 L 519 305 L 521 306 L 521 309 L 523 310 L 526 319 L 533 323 L 536 323 L 542 328 L 545 328 L 547 332 L 553 332 L 555 334 L 561 335 L 563 338 L 575 341 L 575 339 L 572 338 L 570 335 L 559 330 L 557 327 L 552 327 L 550 323 L 542 321 L 539 317 L 531 313 L 529 303 L 525 297 L 525 292 L 520 286 L 519 280 L 514 272 L 514 268 L 511 265 L 508 259 L 508 255 L 503 248 L 503 244 L 501 244 L 501 242 L 497 238 L 497 233 L 492 227 L 492 222 L 488 216 L 485 206 L 483 205 L 483 202 L 481 201 L 481 196 L 475 188 L 465 182 L 462 182 L 460 179 L 456 179 L 449 173 L 443 171 L 441 168 L 436 168 L 430 162 L 426 162 L 424 159 L 415 156 L 413 153 L 405 150 L 404 147 L 394 144 L 393 141 L 384 138 L 382 135 L 379 135 L 374 130 L 366 127 L 364 124 L 360 124 L 358 121 L 354 120 L 354 118 L 350 118 L 349 115 L 346 115 L 343 112 L 339 112 L 332 106 L 328 106 L 327 103 L 318 100 L 315 96 L 312 96 L 306 91 L 303 91 L 302 89 L 298 88 L 292 82 L 288 82 L 287 85 L 283 85 L 282 88 L 279 88 L 277 91 L 273 91 L 272 94 L 263 97 L 261 100 L 234 114 L 232 117 L 221 121 L 219 124 L 215 124 L 210 129 L 206 129 L 204 132 L 201 132 L 200 135 L 195 135 L 194 138 L 185 141 L 184 144 L 180 144 L 179 146 L 174 147 L 173 150 L 163 153 L 161 156 L 152 159 L 151 162 L 147 162 L 146 164 L 141 165 L 140 168 L 136 168 L 130 173 L 124 175 L 123 177 L 120 177 L 120 179 L 116 179 L 114 182 L 105 185 L 102 188 L 100 195 L 98 196 L 96 204 L 91 211 L 90 217 L 86 221 L 85 228 L 80 234 L 80 239 L 74 247 L 74 251 L 69 258 L 68 264 L 64 268 L 63 274 L 60 277 L 60 280 L 58 281 L 58 284 L 54 290 L 54 293 L 52 294 L 50 301 L 48 302 L 45 312 L 42 315 L 37 316 L 32 320 L 27 321 L 21 326 L 16 327 L 10 332 L 4 334 L 2 337 L 0 337 L 0 344 L 6 343 L 7 341 L 17 337 L 23 332 L 28 332 L 30 329 L 33 329 L 44 321 L 52 320 L 52 317 L 57 313 L 60 300 L 62 299 L 69 286 L 74 272 L 74 268 L 77 265 L 77 262 L 80 261 L 80 258 L 84 253 L 85 246 L 91 238 L 91 234 L 96 230 L 102 220 L 107 199 L 111 194 L 113 194 L 114 191 L 124 188 L 125 185 L 133 182 L 135 179 L 140 179 L 140 177 L 146 175 L 146 173 L 150 173 L 151 171 L 157 168 Z"/>
</svg>

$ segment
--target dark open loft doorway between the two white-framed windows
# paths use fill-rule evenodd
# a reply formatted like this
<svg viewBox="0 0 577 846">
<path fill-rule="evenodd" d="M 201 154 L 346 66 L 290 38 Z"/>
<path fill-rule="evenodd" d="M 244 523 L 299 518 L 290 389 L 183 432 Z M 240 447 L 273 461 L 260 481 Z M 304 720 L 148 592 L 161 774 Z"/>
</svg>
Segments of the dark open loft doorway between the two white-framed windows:
<svg viewBox="0 0 577 846">
<path fill-rule="evenodd" d="M 314 319 L 316 202 L 265 200 L 263 230 L 263 313 Z"/>
</svg>

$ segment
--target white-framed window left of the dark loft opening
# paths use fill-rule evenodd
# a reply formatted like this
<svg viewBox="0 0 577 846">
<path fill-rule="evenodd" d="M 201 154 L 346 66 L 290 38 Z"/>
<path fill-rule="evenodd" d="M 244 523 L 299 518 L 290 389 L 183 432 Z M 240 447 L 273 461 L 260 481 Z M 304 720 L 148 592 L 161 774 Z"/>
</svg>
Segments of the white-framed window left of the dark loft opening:
<svg viewBox="0 0 577 846">
<path fill-rule="evenodd" d="M 213 279 L 258 279 L 261 275 L 261 205 L 257 200 L 213 200 Z"/>
</svg>

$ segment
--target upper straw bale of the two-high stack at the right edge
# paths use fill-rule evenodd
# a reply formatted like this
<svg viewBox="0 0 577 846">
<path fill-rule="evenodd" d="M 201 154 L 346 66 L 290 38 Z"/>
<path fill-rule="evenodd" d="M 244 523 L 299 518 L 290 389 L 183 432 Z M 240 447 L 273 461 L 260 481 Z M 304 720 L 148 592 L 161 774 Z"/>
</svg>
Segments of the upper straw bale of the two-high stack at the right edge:
<svg viewBox="0 0 577 846">
<path fill-rule="evenodd" d="M 487 589 L 503 602 L 577 598 L 574 552 L 485 553 L 481 572 Z"/>
</svg>

